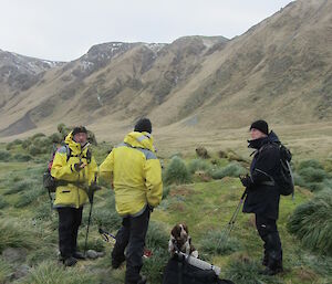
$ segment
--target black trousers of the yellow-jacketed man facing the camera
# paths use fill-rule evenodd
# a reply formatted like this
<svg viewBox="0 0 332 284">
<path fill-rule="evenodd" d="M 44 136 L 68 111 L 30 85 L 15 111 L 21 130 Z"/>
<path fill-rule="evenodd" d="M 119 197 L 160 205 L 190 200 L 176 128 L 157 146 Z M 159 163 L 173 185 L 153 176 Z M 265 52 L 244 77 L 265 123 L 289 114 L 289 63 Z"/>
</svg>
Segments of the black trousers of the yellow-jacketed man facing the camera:
<svg viewBox="0 0 332 284">
<path fill-rule="evenodd" d="M 59 213 L 59 250 L 61 256 L 72 256 L 77 246 L 77 232 L 82 222 L 83 207 L 76 209 L 71 207 L 58 208 Z"/>
</svg>

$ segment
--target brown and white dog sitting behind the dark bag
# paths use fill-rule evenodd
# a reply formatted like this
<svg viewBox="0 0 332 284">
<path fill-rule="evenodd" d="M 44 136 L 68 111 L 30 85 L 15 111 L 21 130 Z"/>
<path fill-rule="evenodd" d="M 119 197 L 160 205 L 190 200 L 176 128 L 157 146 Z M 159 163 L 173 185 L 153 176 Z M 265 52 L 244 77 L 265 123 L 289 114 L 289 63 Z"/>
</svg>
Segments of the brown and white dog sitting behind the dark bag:
<svg viewBox="0 0 332 284">
<path fill-rule="evenodd" d="M 198 251 L 191 244 L 188 227 L 185 223 L 178 223 L 172 229 L 168 251 L 172 255 L 174 255 L 175 252 L 180 251 L 194 257 L 198 257 Z"/>
</svg>

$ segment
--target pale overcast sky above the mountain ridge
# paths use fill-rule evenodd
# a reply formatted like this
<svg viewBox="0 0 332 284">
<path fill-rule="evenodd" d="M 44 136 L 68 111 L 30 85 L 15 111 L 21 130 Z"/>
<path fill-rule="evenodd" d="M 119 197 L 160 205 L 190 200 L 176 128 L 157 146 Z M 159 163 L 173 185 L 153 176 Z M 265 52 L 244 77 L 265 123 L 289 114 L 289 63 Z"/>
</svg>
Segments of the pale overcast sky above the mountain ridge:
<svg viewBox="0 0 332 284">
<path fill-rule="evenodd" d="M 231 39 L 290 0 L 0 0 L 0 49 L 71 61 L 97 43 Z"/>
</svg>

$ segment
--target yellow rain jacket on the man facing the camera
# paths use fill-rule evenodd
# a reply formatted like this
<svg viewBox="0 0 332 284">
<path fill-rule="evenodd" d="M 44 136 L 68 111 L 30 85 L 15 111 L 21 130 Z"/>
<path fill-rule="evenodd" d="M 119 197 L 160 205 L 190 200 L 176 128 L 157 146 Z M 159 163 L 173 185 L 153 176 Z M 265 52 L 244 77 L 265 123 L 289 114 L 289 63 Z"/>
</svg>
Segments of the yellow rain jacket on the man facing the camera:
<svg viewBox="0 0 332 284">
<path fill-rule="evenodd" d="M 81 144 L 73 140 L 72 133 L 66 136 L 65 144 L 70 148 L 70 156 L 68 147 L 61 147 L 54 156 L 51 169 L 52 177 L 62 185 L 56 188 L 54 207 L 80 208 L 87 201 L 86 190 L 95 180 L 97 165 L 94 157 L 89 155 L 87 147 L 82 148 Z M 87 166 L 75 171 L 74 165 L 80 161 Z"/>
</svg>

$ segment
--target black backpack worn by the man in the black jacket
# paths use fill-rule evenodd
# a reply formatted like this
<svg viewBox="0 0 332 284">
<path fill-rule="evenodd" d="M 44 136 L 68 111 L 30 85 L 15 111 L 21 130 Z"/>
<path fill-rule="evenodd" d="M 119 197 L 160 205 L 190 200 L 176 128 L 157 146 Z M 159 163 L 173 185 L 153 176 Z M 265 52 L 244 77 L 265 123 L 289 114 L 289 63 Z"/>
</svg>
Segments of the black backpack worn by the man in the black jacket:
<svg viewBox="0 0 332 284">
<path fill-rule="evenodd" d="M 291 151 L 282 144 L 278 145 L 280 152 L 280 172 L 277 178 L 280 194 L 290 196 L 294 194 L 294 179 L 290 166 L 292 159 Z"/>
</svg>

